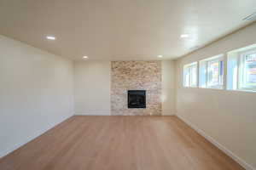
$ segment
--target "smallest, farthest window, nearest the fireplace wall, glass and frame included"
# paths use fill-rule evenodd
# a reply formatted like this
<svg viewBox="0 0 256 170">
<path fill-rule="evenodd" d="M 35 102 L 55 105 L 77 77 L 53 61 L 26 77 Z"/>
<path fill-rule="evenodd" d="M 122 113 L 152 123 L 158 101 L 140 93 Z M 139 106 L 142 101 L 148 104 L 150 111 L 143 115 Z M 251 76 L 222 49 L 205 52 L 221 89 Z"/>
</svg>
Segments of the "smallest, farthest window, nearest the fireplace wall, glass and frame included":
<svg viewBox="0 0 256 170">
<path fill-rule="evenodd" d="M 183 86 L 197 87 L 197 62 L 183 66 Z"/>
</svg>

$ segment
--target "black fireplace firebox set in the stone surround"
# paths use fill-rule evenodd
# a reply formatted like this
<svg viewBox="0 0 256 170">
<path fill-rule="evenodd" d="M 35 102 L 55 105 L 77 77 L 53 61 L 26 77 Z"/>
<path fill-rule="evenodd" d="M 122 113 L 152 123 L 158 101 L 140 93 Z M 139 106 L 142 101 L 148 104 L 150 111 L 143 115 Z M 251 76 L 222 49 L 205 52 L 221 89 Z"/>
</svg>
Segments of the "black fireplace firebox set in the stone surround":
<svg viewBox="0 0 256 170">
<path fill-rule="evenodd" d="M 128 90 L 128 108 L 146 108 L 146 90 Z"/>
</svg>

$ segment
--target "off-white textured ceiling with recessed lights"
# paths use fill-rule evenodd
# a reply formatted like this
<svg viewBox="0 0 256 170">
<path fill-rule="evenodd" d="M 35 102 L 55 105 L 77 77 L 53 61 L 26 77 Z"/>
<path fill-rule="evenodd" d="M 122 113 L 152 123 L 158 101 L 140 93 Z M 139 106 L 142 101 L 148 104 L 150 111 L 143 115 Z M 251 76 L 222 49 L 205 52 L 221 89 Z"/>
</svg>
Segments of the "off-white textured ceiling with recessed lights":
<svg viewBox="0 0 256 170">
<path fill-rule="evenodd" d="M 255 0 L 0 0 L 0 34 L 70 59 L 176 59 L 255 11 Z"/>
</svg>

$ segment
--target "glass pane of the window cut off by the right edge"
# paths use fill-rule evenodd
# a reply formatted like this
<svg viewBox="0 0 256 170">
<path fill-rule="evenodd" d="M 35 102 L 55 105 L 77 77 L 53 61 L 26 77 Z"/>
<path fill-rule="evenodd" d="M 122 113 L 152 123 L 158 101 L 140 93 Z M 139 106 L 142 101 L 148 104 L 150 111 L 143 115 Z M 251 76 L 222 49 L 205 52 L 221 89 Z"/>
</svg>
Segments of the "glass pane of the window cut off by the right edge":
<svg viewBox="0 0 256 170">
<path fill-rule="evenodd" d="M 256 86 L 256 54 L 248 54 L 244 61 L 244 83 L 247 87 Z"/>
</svg>

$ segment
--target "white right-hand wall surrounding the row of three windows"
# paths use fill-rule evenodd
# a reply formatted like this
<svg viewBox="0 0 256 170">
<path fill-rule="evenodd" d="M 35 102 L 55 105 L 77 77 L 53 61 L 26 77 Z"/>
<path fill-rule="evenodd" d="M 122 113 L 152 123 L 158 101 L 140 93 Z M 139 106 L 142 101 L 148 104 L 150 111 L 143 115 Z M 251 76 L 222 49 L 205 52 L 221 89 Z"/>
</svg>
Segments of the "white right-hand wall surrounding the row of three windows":
<svg viewBox="0 0 256 170">
<path fill-rule="evenodd" d="M 256 93 L 183 88 L 183 65 L 256 42 L 256 23 L 177 59 L 177 116 L 212 137 L 240 163 L 256 167 Z M 252 167 L 251 167 L 252 168 Z"/>
</svg>

